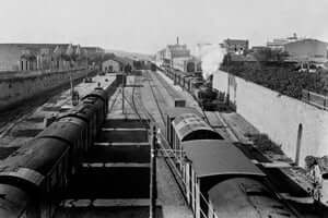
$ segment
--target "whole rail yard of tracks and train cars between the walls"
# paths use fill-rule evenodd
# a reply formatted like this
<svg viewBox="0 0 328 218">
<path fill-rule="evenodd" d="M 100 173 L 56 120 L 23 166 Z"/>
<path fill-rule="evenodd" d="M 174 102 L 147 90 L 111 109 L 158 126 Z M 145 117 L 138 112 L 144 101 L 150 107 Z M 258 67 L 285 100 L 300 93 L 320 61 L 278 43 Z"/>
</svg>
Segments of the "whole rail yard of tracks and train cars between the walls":
<svg viewBox="0 0 328 218">
<path fill-rule="evenodd" d="M 101 73 L 28 110 L 8 112 L 1 123 L 0 216 L 326 213 L 302 204 L 311 201 L 309 184 L 297 183 L 292 168 L 254 147 L 245 132 L 256 130 L 220 98 L 202 100 L 202 90 L 195 90 L 200 83 L 197 74 L 152 63 L 130 73 Z"/>
</svg>

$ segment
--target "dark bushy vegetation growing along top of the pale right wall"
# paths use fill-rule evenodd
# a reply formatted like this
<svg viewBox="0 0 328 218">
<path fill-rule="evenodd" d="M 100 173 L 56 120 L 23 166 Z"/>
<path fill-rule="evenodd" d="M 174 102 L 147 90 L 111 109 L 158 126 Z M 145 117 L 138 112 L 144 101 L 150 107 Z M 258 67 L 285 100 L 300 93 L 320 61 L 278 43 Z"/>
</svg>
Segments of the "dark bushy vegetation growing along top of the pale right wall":
<svg viewBox="0 0 328 218">
<path fill-rule="evenodd" d="M 300 72 L 297 66 L 283 62 L 234 62 L 231 60 L 231 57 L 225 56 L 220 69 L 297 99 L 302 98 L 302 89 L 323 95 L 328 93 L 324 73 L 320 71 L 317 73 Z"/>
</svg>

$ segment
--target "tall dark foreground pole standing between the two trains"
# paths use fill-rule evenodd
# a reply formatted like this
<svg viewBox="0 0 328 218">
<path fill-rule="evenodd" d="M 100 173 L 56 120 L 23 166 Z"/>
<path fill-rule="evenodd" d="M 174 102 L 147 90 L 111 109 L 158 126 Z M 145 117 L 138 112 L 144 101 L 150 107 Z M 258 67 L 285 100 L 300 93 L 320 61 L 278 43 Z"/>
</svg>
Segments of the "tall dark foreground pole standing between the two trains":
<svg viewBox="0 0 328 218">
<path fill-rule="evenodd" d="M 153 132 L 152 132 L 152 143 L 151 143 L 151 168 L 150 168 L 150 218 L 155 218 L 156 217 L 156 198 L 157 198 L 157 191 L 156 191 L 156 156 L 157 156 L 157 150 L 156 150 L 156 143 L 157 143 L 157 137 L 156 137 L 156 128 L 155 125 L 153 126 Z"/>
</svg>

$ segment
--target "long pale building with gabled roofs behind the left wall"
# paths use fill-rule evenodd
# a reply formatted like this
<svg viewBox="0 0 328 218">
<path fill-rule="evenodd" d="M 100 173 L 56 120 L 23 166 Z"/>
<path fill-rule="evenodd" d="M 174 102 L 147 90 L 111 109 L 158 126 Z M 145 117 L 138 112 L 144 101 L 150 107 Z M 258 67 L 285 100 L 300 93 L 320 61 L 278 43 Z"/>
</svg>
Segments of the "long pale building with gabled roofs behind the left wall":
<svg viewBox="0 0 328 218">
<path fill-rule="evenodd" d="M 71 44 L 0 44 L 0 72 L 66 70 L 87 65 L 87 53 Z"/>
</svg>

